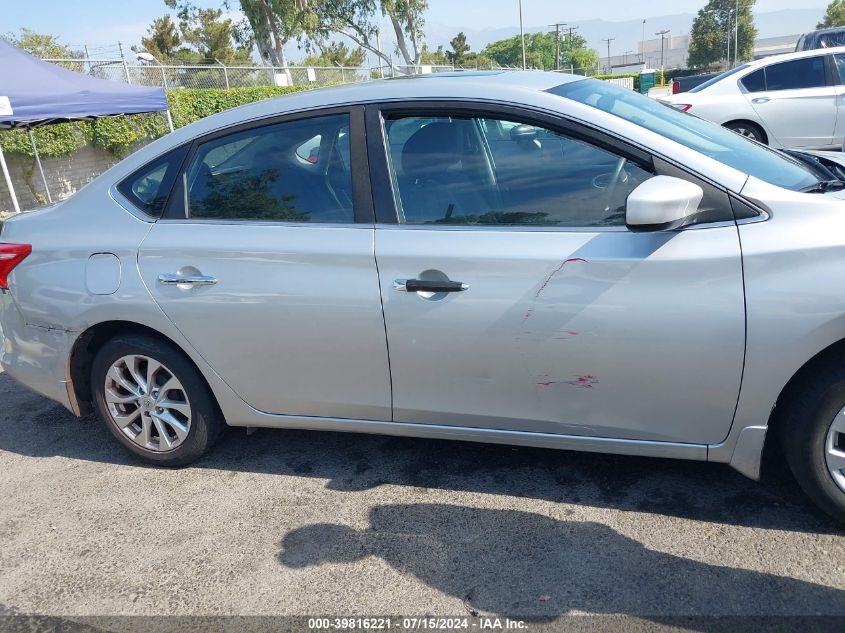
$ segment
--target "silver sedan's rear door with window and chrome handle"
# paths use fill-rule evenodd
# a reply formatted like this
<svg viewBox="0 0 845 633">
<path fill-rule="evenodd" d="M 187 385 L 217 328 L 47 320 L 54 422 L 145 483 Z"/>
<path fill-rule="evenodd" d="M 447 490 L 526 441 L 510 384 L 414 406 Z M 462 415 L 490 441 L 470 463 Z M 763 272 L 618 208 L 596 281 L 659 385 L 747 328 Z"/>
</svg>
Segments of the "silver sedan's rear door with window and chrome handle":
<svg viewBox="0 0 845 633">
<path fill-rule="evenodd" d="M 140 248 L 161 309 L 260 411 L 390 420 L 372 200 L 353 176 L 358 161 L 358 109 L 202 139 Z"/>
</svg>

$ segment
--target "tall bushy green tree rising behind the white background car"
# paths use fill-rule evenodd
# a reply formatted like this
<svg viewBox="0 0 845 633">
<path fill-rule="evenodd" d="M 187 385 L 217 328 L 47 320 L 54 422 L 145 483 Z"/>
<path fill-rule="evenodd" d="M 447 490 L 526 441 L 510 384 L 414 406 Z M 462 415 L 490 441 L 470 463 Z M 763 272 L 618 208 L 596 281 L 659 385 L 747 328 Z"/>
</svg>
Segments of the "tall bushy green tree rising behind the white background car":
<svg viewBox="0 0 845 633">
<path fill-rule="evenodd" d="M 740 61 L 753 57 L 757 27 L 751 9 L 755 0 L 739 0 L 739 53 Z M 709 0 L 692 24 L 688 64 L 691 67 L 709 66 L 721 60 L 730 64 L 735 55 L 734 27 L 736 0 Z M 730 47 L 730 58 L 728 57 Z"/>
</svg>

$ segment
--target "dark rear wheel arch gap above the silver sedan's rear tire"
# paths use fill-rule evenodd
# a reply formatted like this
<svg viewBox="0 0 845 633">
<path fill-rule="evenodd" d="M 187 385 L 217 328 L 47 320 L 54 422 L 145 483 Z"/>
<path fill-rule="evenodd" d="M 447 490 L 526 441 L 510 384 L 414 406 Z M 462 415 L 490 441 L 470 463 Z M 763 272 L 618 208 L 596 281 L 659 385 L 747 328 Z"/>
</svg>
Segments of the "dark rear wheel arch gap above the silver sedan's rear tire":
<svg viewBox="0 0 845 633">
<path fill-rule="evenodd" d="M 212 397 L 215 399 L 214 404 L 218 410 L 220 409 L 220 403 L 217 401 L 217 396 L 211 385 L 208 384 L 208 379 L 191 358 L 190 354 L 187 354 L 179 343 L 147 325 L 135 321 L 112 320 L 103 321 L 89 327 L 77 337 L 71 348 L 68 359 L 68 395 L 71 396 L 71 402 L 75 401 L 75 408 L 77 410 L 74 413 L 77 415 L 87 415 L 93 411 L 91 368 L 94 357 L 106 342 L 121 334 L 142 334 L 172 345 L 175 349 L 179 350 L 188 362 L 194 366 L 199 375 L 202 376 L 202 379 L 209 387 Z"/>
</svg>

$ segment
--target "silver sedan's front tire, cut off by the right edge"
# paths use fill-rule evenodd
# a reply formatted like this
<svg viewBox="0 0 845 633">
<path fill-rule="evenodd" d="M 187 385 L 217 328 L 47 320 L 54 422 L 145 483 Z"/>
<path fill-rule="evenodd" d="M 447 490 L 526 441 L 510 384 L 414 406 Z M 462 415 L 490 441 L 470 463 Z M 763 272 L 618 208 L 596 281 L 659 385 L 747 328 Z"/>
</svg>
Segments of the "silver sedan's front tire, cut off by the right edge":
<svg viewBox="0 0 845 633">
<path fill-rule="evenodd" d="M 822 510 L 845 523 L 845 462 L 835 462 L 842 468 L 829 467 L 828 457 L 831 438 L 845 457 L 845 363 L 835 358 L 817 363 L 778 408 L 779 439 L 798 484 Z"/>
</svg>

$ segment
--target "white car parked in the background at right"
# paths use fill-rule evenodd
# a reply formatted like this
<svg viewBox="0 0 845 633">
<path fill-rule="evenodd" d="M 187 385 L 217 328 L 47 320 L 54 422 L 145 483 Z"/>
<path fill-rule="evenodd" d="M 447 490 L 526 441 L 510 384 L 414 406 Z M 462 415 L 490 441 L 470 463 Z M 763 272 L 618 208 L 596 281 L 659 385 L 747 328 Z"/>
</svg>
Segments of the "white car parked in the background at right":
<svg viewBox="0 0 845 633">
<path fill-rule="evenodd" d="M 842 149 L 845 47 L 749 62 L 660 100 L 772 147 Z"/>
</svg>

